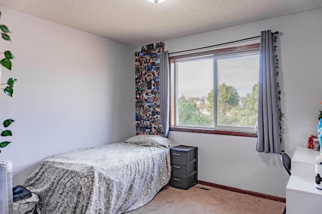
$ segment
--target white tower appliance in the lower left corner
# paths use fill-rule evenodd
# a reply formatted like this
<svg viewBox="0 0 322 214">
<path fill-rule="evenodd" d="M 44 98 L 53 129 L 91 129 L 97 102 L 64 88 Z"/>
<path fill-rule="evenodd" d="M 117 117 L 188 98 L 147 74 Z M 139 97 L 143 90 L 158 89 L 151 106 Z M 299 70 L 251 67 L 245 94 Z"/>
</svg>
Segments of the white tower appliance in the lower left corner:
<svg viewBox="0 0 322 214">
<path fill-rule="evenodd" d="M 12 163 L 8 160 L 0 161 L 0 213 L 12 214 Z"/>
</svg>

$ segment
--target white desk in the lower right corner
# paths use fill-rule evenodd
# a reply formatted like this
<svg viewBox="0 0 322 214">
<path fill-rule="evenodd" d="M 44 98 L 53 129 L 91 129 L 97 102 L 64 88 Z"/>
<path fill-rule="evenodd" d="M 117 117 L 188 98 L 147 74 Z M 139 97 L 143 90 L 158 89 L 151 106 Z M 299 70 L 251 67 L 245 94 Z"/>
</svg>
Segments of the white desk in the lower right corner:
<svg viewBox="0 0 322 214">
<path fill-rule="evenodd" d="M 298 146 L 291 160 L 286 186 L 287 214 L 322 213 L 322 190 L 315 188 L 315 157 L 319 151 Z"/>
</svg>

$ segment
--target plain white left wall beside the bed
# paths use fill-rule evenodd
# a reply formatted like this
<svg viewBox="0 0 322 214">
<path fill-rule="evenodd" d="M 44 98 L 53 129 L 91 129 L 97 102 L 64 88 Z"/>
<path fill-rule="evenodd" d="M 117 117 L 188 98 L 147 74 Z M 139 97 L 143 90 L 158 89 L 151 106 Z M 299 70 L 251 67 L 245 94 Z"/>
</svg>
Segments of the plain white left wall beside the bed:
<svg viewBox="0 0 322 214">
<path fill-rule="evenodd" d="M 0 159 L 13 163 L 23 184 L 49 155 L 125 140 L 135 135 L 134 47 L 0 7 L 12 42 L 17 78 L 13 98 L 2 92 L 0 122 L 12 118 L 12 141 Z"/>
</svg>

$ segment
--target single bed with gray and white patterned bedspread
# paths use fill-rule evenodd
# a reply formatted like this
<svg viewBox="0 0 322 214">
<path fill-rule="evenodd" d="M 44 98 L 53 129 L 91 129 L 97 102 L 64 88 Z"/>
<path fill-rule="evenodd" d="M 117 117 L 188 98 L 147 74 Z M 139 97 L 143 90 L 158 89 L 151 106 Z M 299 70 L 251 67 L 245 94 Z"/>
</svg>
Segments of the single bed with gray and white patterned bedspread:
<svg viewBox="0 0 322 214">
<path fill-rule="evenodd" d="M 53 155 L 24 183 L 45 213 L 124 213 L 148 203 L 171 177 L 169 138 L 124 142 Z"/>
</svg>

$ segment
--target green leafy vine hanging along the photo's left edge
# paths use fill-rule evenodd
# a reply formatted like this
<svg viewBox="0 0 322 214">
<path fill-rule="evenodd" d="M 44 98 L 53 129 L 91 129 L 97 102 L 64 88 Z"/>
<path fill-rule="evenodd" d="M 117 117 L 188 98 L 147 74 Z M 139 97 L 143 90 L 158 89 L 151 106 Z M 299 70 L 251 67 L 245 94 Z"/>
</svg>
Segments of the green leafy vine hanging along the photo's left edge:
<svg viewBox="0 0 322 214">
<path fill-rule="evenodd" d="M 1 18 L 1 12 L 0 12 L 0 18 Z M 11 33 L 9 31 L 9 29 L 7 28 L 7 26 L 5 25 L 0 25 L 0 29 L 1 29 L 1 36 L 4 40 L 7 40 L 7 41 L 11 41 L 11 38 L 10 36 L 8 35 L 9 33 Z M 11 60 L 14 59 L 14 55 L 10 52 L 10 51 L 5 51 L 4 53 L 1 53 L 5 56 L 5 58 L 1 58 L 0 60 L 0 64 L 3 65 L 5 68 L 11 70 L 11 67 L 12 67 L 12 62 Z M 0 73 L 1 75 L 1 73 Z M 0 78 L 1 79 L 1 78 Z M 5 88 L 1 88 L 1 90 L 4 90 L 5 94 L 7 94 L 8 96 L 11 96 L 13 95 L 13 92 L 14 92 L 14 89 L 13 87 L 15 86 L 15 83 L 16 83 L 17 79 L 14 79 L 14 78 L 9 78 L 8 81 L 6 83 L 2 83 L 2 85 L 6 85 Z M 1 83 L 1 82 L 0 82 Z M 1 124 L 4 128 L 7 128 L 9 127 L 12 123 L 14 122 L 14 120 L 12 119 L 7 119 L 4 121 L 3 124 Z M 2 130 L 0 129 L 1 131 L 1 136 L 2 137 L 8 137 L 8 136 L 12 136 L 12 132 L 10 130 Z M 3 141 L 0 143 L 0 148 L 4 148 L 6 146 L 8 146 L 11 142 L 10 141 Z M 1 150 L 0 150 L 1 152 Z"/>
</svg>

